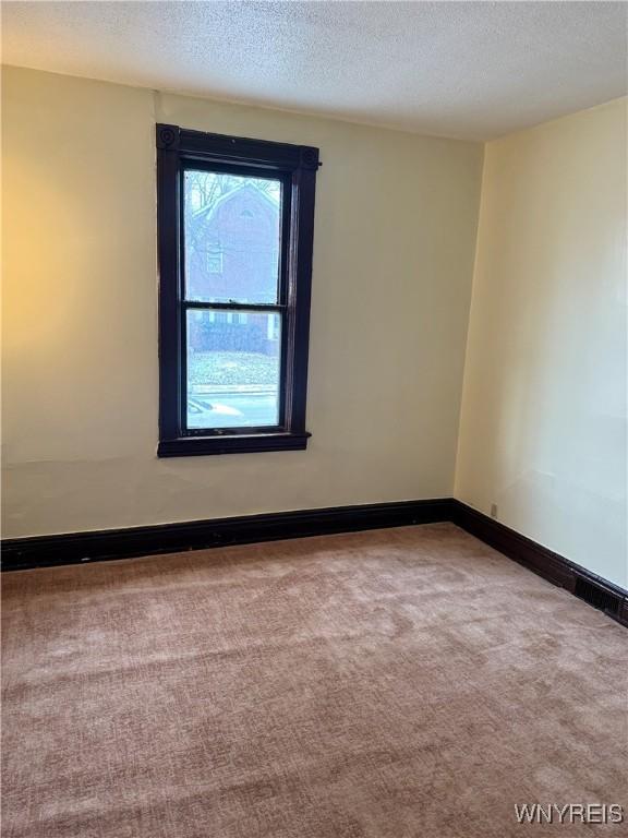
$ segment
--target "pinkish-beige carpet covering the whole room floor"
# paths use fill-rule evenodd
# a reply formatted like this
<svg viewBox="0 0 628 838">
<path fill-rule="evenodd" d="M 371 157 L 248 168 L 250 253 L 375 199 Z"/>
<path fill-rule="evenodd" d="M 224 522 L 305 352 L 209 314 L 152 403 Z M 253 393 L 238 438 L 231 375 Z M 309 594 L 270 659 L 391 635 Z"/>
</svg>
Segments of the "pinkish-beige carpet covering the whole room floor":
<svg viewBox="0 0 628 838">
<path fill-rule="evenodd" d="M 450 524 L 3 576 L 3 838 L 508 838 L 621 803 L 628 632 Z"/>
</svg>

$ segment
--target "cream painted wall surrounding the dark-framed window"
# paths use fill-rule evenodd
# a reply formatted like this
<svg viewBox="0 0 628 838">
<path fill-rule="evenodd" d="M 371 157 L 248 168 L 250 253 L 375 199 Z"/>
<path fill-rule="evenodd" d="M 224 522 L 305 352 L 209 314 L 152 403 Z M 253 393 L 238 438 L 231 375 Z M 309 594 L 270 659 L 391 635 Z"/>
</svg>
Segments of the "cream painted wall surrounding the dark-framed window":
<svg viewBox="0 0 628 838">
<path fill-rule="evenodd" d="M 3 73 L 5 537 L 450 495 L 480 145 Z M 158 460 L 154 124 L 318 145 L 306 452 Z"/>
</svg>

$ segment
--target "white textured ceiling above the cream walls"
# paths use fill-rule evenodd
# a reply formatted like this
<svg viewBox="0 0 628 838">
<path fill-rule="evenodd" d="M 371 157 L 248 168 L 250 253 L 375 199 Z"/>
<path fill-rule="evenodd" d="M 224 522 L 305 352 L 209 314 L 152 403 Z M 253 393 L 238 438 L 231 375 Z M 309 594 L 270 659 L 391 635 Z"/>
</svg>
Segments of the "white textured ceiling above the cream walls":
<svg viewBox="0 0 628 838">
<path fill-rule="evenodd" d="M 486 140 L 621 96 L 625 2 L 3 2 L 3 63 Z"/>
</svg>

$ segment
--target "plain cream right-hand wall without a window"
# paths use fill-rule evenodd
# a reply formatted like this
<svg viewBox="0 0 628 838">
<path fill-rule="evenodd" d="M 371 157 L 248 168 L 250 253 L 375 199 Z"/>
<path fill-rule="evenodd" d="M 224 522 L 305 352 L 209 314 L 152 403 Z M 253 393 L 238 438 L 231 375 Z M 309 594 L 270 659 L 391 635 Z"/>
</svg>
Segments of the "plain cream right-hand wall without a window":
<svg viewBox="0 0 628 838">
<path fill-rule="evenodd" d="M 626 104 L 486 146 L 456 475 L 624 587 Z"/>
</svg>

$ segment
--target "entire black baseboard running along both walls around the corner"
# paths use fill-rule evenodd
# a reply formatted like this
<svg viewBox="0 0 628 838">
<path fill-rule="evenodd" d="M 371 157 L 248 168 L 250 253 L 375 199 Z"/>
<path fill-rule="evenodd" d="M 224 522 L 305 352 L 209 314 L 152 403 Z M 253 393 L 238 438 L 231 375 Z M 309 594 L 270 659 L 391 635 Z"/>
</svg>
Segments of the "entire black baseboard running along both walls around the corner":
<svg viewBox="0 0 628 838">
<path fill-rule="evenodd" d="M 566 588 L 628 626 L 627 590 L 452 498 L 12 538 L 2 541 L 2 570 L 52 567 L 444 520 L 457 524 L 547 582 Z"/>
</svg>

